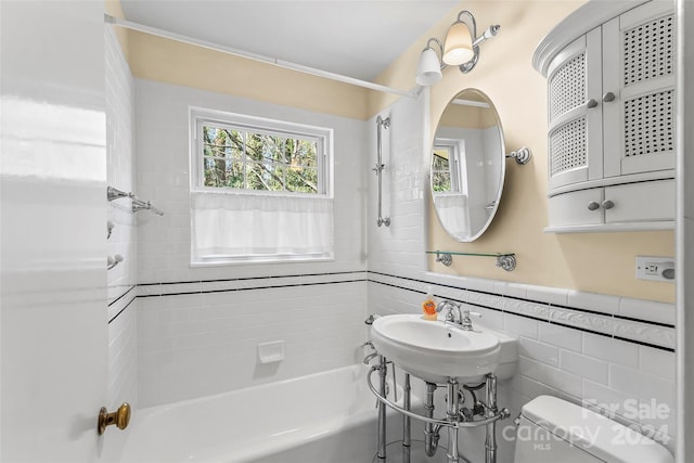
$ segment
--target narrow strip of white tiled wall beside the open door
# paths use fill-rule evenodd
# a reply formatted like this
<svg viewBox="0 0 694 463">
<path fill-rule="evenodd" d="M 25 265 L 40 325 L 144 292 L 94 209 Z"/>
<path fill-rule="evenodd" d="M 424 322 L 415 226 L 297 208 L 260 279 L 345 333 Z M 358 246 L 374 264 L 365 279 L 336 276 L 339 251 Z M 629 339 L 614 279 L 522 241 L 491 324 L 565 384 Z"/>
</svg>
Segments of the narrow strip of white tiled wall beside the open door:
<svg viewBox="0 0 694 463">
<path fill-rule="evenodd" d="M 112 28 L 105 27 L 106 176 L 108 185 L 134 190 L 134 93 L 132 74 Z M 104 192 L 104 203 L 106 203 Z M 123 261 L 108 270 L 108 401 L 137 406 L 137 343 L 134 296 L 137 285 L 137 217 L 128 198 L 108 202 L 106 217 L 114 223 L 108 255 Z M 105 226 L 105 223 L 104 223 Z M 104 233 L 106 232 L 104 227 Z M 105 260 L 105 259 L 104 259 Z M 125 310 L 128 308 L 128 310 Z"/>
</svg>

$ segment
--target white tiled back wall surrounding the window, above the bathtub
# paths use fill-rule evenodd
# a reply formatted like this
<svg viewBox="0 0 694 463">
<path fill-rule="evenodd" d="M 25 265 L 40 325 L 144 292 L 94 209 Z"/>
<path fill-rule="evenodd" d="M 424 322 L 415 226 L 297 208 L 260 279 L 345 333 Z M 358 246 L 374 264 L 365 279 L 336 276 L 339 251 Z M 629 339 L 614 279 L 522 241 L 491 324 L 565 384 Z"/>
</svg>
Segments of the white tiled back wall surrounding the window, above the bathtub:
<svg viewBox="0 0 694 463">
<path fill-rule="evenodd" d="M 333 261 L 190 266 L 189 108 L 334 130 Z M 136 79 L 139 399 L 143 407 L 352 364 L 365 340 L 365 123 Z M 264 364 L 258 345 L 283 342 Z"/>
</svg>

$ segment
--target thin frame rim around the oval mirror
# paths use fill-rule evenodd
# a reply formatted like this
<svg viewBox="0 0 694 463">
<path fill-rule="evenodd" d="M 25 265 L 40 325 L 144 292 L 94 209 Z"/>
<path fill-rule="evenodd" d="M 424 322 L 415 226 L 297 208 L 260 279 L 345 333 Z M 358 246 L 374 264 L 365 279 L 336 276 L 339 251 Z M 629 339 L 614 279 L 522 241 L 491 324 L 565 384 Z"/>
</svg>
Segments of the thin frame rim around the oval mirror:
<svg viewBox="0 0 694 463">
<path fill-rule="evenodd" d="M 493 200 L 493 208 L 490 209 L 489 213 L 489 217 L 487 218 L 486 223 L 477 231 L 475 231 L 475 233 L 472 233 L 471 231 L 471 235 L 462 239 L 458 235 L 454 235 L 453 233 L 451 233 L 451 231 L 446 227 L 446 223 L 444 223 L 444 221 L 441 220 L 441 215 L 439 214 L 438 208 L 436 207 L 436 202 L 435 202 L 435 193 L 434 193 L 434 175 L 433 175 L 433 163 L 434 163 L 434 149 L 436 146 L 436 140 L 437 140 L 437 133 L 440 130 L 441 127 L 441 120 L 444 119 L 444 115 L 446 114 L 446 111 L 451 107 L 453 103 L 453 101 L 459 100 L 461 98 L 464 99 L 464 94 L 468 92 L 475 92 L 477 94 L 477 97 L 484 99 L 485 103 L 487 103 L 489 105 L 489 110 L 492 112 L 494 119 L 497 120 L 497 127 L 498 127 L 498 137 L 499 137 L 499 141 L 500 141 L 500 150 L 498 153 L 499 159 L 500 159 L 500 179 L 499 179 L 499 188 L 497 189 L 497 195 Z M 448 233 L 448 235 L 460 243 L 471 243 L 475 240 L 478 240 L 486 231 L 487 229 L 489 229 L 489 227 L 491 226 L 491 222 L 493 221 L 496 215 L 497 215 L 497 210 L 499 209 L 499 202 L 501 201 L 501 194 L 503 193 L 503 187 L 504 187 L 504 182 L 505 182 L 505 177 L 506 177 L 506 163 L 505 163 L 505 158 L 506 158 L 506 152 L 505 152 L 505 142 L 504 142 L 504 136 L 503 136 L 503 127 L 501 125 L 501 118 L 499 117 L 499 112 L 497 111 L 497 107 L 493 104 L 493 101 L 489 98 L 488 94 L 486 94 L 485 92 L 483 92 L 479 89 L 476 88 L 465 88 L 461 91 L 459 91 L 458 93 L 455 93 L 453 95 L 453 98 L 451 98 L 448 102 L 448 104 L 446 105 L 446 107 L 444 108 L 444 111 L 441 112 L 438 123 L 436 125 L 436 131 L 434 132 L 434 139 L 432 140 L 432 144 L 429 147 L 429 194 L 430 194 L 430 198 L 432 198 L 432 204 L 434 206 L 434 210 L 436 211 L 436 218 L 438 219 L 439 224 L 441 226 L 441 228 L 446 231 L 446 233 Z"/>
</svg>

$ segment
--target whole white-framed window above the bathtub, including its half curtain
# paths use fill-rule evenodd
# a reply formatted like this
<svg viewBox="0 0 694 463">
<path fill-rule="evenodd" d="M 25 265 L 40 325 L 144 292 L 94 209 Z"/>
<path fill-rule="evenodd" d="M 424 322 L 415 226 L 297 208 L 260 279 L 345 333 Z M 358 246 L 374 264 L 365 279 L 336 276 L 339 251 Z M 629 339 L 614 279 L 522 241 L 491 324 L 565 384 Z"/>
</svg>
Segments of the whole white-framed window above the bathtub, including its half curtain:
<svg viewBox="0 0 694 463">
<path fill-rule="evenodd" d="M 192 263 L 331 258 L 332 133 L 192 108 Z"/>
</svg>

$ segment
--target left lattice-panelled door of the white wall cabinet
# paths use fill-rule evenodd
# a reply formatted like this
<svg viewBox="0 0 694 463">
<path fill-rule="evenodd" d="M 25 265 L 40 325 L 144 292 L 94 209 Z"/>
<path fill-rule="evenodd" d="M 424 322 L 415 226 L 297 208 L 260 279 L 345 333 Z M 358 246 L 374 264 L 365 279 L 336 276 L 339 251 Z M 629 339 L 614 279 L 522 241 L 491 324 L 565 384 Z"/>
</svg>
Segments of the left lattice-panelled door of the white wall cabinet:
<svg viewBox="0 0 694 463">
<path fill-rule="evenodd" d="M 548 69 L 550 191 L 602 178 L 601 30 L 567 46 Z"/>
</svg>

